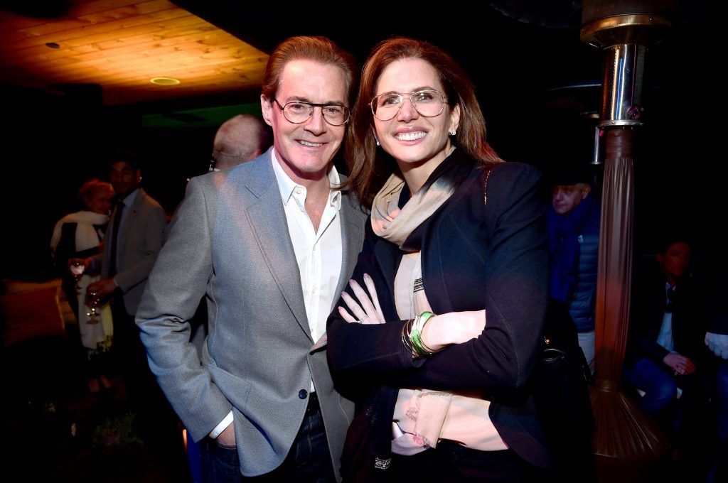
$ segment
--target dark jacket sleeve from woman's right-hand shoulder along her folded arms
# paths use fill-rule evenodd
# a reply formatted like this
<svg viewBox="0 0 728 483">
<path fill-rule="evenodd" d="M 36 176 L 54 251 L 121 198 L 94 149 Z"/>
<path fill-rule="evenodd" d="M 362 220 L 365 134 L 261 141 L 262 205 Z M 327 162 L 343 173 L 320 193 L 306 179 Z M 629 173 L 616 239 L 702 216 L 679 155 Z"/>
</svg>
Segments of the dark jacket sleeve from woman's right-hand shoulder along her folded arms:
<svg viewBox="0 0 728 483">
<path fill-rule="evenodd" d="M 381 383 L 400 387 L 522 387 L 537 360 L 547 305 L 545 203 L 539 178 L 536 169 L 504 164 L 494 168 L 488 181 L 490 205 L 482 213 L 489 232 L 487 268 L 478 284 L 484 287 L 487 324 L 478 338 L 412 359 L 401 342 L 403 321 L 347 324 L 335 311 L 328 349 L 333 368 L 379 375 Z M 372 265 L 363 260 L 365 268 Z M 357 266 L 355 277 L 363 273 Z M 340 345 L 346 346 L 345 353 Z"/>
</svg>

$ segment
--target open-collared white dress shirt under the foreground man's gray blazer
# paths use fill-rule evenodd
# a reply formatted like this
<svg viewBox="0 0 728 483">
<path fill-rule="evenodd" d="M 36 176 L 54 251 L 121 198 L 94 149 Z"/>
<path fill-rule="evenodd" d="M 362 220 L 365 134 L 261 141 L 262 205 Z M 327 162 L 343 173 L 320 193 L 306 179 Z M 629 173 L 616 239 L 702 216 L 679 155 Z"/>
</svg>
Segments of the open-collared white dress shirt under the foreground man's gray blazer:
<svg viewBox="0 0 728 483">
<path fill-rule="evenodd" d="M 318 230 L 306 212 L 306 187 L 295 183 L 285 174 L 275 149 L 271 151 L 273 172 L 280 191 L 288 233 L 296 254 L 301 289 L 306 306 L 306 319 L 314 343 L 326 332 L 326 319 L 336 301 L 336 286 L 341 276 L 341 191 L 329 193 Z M 339 172 L 331 166 L 328 172 L 331 185 L 339 185 Z M 314 392 L 311 381 L 311 392 Z M 210 432 L 216 438 L 233 421 L 232 411 Z"/>
</svg>

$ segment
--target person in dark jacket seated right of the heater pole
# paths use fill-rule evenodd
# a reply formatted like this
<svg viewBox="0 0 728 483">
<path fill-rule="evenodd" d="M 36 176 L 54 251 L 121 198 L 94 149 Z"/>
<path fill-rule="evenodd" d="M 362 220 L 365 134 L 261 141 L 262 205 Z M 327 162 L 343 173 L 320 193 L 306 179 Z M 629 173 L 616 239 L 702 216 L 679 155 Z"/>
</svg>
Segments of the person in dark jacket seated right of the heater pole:
<svg viewBox="0 0 728 483">
<path fill-rule="evenodd" d="M 668 240 L 657 267 L 636 277 L 624 380 L 644 391 L 638 404 L 670 436 L 678 470 L 697 481 L 714 450 L 714 364 L 704 343 L 704 293 L 689 277 L 691 257 L 689 242 Z"/>
</svg>

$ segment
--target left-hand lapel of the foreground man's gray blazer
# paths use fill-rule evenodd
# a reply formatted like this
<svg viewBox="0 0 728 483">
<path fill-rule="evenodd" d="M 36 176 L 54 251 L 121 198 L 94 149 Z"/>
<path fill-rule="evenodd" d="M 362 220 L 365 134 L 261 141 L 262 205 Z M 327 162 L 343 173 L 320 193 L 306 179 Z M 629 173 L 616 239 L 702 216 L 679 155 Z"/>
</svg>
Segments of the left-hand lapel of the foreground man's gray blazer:
<svg viewBox="0 0 728 483">
<path fill-rule="evenodd" d="M 270 151 L 252 162 L 256 163 L 255 171 L 245 183 L 258 201 L 250 205 L 245 212 L 250 218 L 250 226 L 266 265 L 285 302 L 296 317 L 301 330 L 313 342 L 306 318 L 301 274 L 298 271 L 296 252 L 293 251 L 293 243 L 290 241 L 280 190 L 271 165 Z"/>
</svg>

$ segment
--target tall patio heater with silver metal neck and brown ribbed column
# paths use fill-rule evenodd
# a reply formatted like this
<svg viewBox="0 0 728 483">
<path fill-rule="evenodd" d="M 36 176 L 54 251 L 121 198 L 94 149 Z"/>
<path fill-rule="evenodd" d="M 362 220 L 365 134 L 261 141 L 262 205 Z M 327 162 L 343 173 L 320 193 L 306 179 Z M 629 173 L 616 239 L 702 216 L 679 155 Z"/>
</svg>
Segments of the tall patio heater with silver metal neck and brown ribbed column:
<svg viewBox="0 0 728 483">
<path fill-rule="evenodd" d="M 664 38 L 676 1 L 585 0 L 582 41 L 604 51 L 604 188 L 596 301 L 596 420 L 599 481 L 649 481 L 668 440 L 620 391 L 627 345 L 633 247 L 633 141 L 641 104 L 647 46 Z"/>
</svg>

